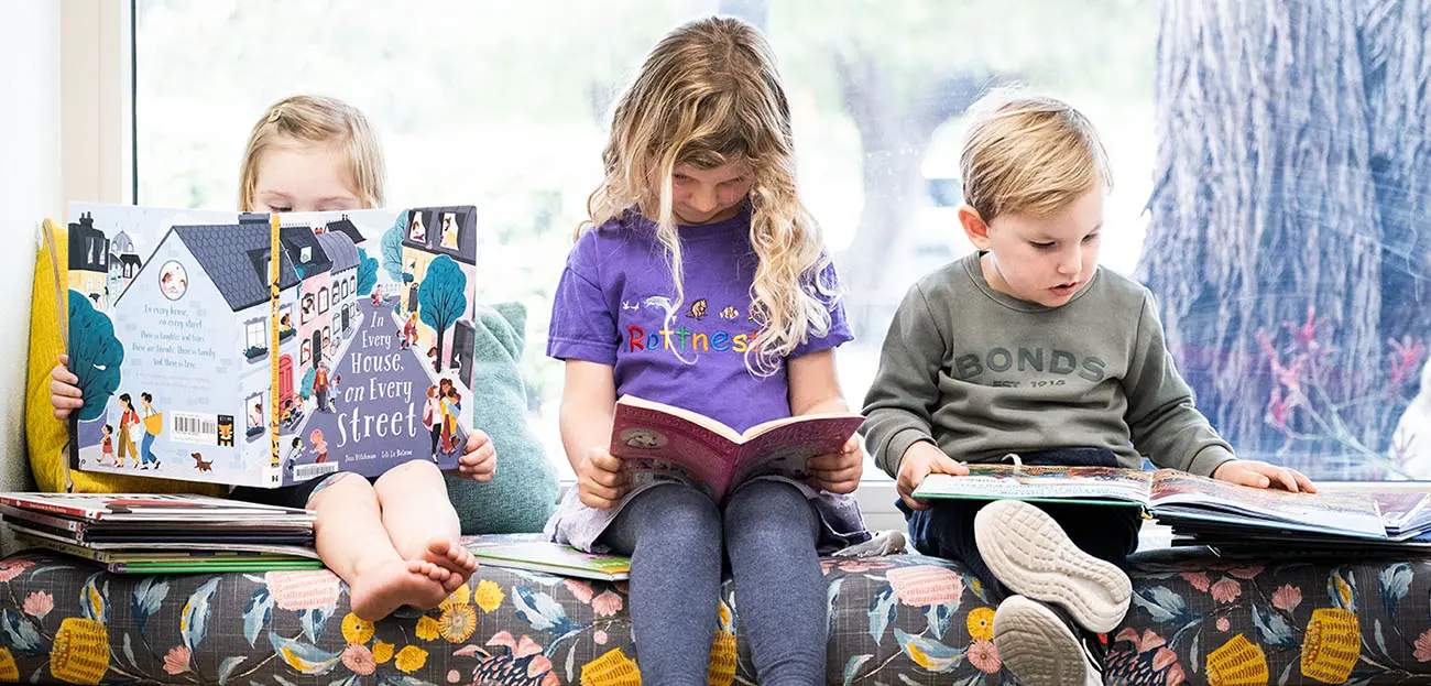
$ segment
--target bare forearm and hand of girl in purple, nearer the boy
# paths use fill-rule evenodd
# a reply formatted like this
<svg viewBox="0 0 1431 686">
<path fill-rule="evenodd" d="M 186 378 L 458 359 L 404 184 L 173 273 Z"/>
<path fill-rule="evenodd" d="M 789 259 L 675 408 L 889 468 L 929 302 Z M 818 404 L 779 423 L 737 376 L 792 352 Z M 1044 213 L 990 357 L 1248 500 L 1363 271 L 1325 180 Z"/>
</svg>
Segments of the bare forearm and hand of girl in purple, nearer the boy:
<svg viewBox="0 0 1431 686">
<path fill-rule="evenodd" d="M 823 349 L 790 358 L 790 414 L 849 412 L 834 371 L 834 351 Z M 860 438 L 851 435 L 840 453 L 816 455 L 806 461 L 810 485 L 830 493 L 853 493 L 864 474 Z"/>
</svg>

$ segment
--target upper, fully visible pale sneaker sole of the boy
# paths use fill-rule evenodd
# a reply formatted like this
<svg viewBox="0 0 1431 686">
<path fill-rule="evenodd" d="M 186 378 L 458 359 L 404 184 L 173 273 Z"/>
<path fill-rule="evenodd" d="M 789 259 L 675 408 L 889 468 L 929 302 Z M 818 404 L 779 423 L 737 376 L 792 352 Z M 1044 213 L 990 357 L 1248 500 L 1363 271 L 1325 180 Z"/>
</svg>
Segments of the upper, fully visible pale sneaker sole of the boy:
<svg viewBox="0 0 1431 686">
<path fill-rule="evenodd" d="M 1083 629 L 1108 633 L 1128 614 L 1133 594 L 1128 574 L 1079 550 L 1037 507 L 989 503 L 975 516 L 975 543 L 999 581 L 1020 596 L 1058 603 Z"/>
</svg>

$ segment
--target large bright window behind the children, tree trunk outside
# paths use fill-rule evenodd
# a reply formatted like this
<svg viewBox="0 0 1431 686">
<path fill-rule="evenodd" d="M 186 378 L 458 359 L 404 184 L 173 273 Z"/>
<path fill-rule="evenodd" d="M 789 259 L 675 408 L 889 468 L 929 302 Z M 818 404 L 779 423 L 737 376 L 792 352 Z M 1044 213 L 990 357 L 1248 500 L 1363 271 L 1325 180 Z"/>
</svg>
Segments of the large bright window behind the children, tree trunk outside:
<svg viewBox="0 0 1431 686">
<path fill-rule="evenodd" d="M 1335 109 L 1421 92 L 1415 70 L 1402 64 L 1425 63 L 1431 46 L 1395 43 L 1421 30 L 1401 24 L 1415 13 L 1385 14 L 1388 24 L 1374 32 L 1289 33 L 1279 27 L 1291 26 L 1292 11 L 1307 13 L 1314 29 L 1372 14 L 1351 0 L 1265 3 L 1249 14 L 1238 3 L 1151 0 L 1099 10 L 912 0 L 841 11 L 816 0 L 698 10 L 633 0 L 525 3 L 504 7 L 502 21 L 489 24 L 484 4 L 352 0 L 341 21 L 392 27 L 358 44 L 346 40 L 352 32 L 308 30 L 333 21 L 319 4 L 228 3 L 215 11 L 209 3 L 137 0 L 139 199 L 226 208 L 235 150 L 266 105 L 295 92 L 352 102 L 384 135 L 389 198 L 481 208 L 482 299 L 527 305 L 531 417 L 561 455 L 562 368 L 539 351 L 571 228 L 601 176 L 605 113 L 665 30 L 716 4 L 747 11 L 780 57 L 800 192 L 849 294 L 857 338 L 837 359 L 851 407 L 876 372 L 907 288 L 972 251 L 956 216 L 963 113 L 983 84 L 1017 79 L 1070 100 L 1099 127 L 1115 180 L 1100 262 L 1158 296 L 1179 371 L 1239 454 L 1319 480 L 1431 478 L 1431 412 L 1415 410 L 1431 407 L 1431 162 L 1415 145 L 1392 143 L 1415 129 L 1420 120 L 1407 113 L 1422 100 L 1355 106 L 1358 117 Z M 494 29 L 468 50 L 408 49 L 431 26 L 459 24 Z M 1369 43 L 1304 50 L 1348 32 Z M 600 37 L 595 49 L 591 36 Z M 255 42 L 289 49 L 242 50 Z M 514 54 L 524 69 L 482 67 Z M 1262 54 L 1307 59 L 1288 67 Z M 1329 90 L 1315 97 L 1244 86 L 1248 73 L 1278 87 L 1309 83 L 1269 72 L 1282 67 L 1351 76 L 1322 84 Z M 1188 73 L 1196 79 L 1172 80 Z M 391 96 L 418 92 L 434 96 Z M 1349 148 L 1365 140 L 1388 145 Z M 445 150 L 471 155 L 444 159 Z M 431 232 L 445 239 L 442 216 L 409 218 L 409 239 L 442 245 Z M 402 264 L 421 281 L 416 259 Z M 415 289 L 402 291 L 402 304 L 416 305 Z M 883 478 L 873 465 L 866 474 Z"/>
</svg>

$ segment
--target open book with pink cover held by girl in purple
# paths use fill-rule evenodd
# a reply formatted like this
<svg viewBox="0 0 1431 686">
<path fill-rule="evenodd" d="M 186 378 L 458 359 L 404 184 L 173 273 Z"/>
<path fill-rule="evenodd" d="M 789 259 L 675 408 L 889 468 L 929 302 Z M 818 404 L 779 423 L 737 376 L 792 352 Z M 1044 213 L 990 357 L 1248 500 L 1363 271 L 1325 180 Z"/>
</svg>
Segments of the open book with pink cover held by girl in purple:
<svg viewBox="0 0 1431 686">
<path fill-rule="evenodd" d="M 633 485 L 693 483 L 724 501 L 753 477 L 807 478 L 806 461 L 840 453 L 863 421 L 857 414 L 807 414 L 738 433 L 700 412 L 622 395 L 611 428 L 611 454 L 625 463 Z"/>
</svg>

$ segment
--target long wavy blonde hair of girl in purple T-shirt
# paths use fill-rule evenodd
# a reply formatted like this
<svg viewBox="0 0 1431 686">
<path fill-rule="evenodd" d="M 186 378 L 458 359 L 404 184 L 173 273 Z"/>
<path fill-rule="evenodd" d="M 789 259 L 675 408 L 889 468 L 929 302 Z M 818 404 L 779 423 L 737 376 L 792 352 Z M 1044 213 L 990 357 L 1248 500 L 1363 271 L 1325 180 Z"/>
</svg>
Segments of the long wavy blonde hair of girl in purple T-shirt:
<svg viewBox="0 0 1431 686">
<path fill-rule="evenodd" d="M 836 294 L 819 276 L 830 259 L 819 225 L 796 193 L 790 105 L 774 52 L 758 30 L 738 19 L 710 17 L 665 34 L 617 102 L 601 159 L 605 178 L 591 193 L 590 221 L 577 235 L 628 211 L 654 215 L 675 288 L 667 324 L 685 299 L 671 209 L 674 169 L 746 160 L 750 243 L 760 259 L 750 286 L 760 331 L 746 367 L 774 374 L 809 337 L 829 332 Z"/>
</svg>

